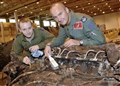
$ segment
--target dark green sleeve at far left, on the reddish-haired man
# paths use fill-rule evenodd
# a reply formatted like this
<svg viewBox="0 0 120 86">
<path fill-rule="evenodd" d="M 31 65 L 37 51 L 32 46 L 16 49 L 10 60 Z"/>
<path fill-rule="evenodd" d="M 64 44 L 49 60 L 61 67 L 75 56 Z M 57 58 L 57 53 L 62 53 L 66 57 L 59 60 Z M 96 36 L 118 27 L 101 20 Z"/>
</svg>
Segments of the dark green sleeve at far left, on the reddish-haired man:
<svg viewBox="0 0 120 86">
<path fill-rule="evenodd" d="M 21 46 L 20 40 L 19 38 L 16 38 L 12 44 L 12 50 L 11 50 L 11 54 L 14 55 L 13 57 L 17 57 L 19 60 L 23 60 L 23 58 L 25 57 L 23 54 L 23 48 Z M 14 58 L 13 58 L 14 59 Z"/>
</svg>

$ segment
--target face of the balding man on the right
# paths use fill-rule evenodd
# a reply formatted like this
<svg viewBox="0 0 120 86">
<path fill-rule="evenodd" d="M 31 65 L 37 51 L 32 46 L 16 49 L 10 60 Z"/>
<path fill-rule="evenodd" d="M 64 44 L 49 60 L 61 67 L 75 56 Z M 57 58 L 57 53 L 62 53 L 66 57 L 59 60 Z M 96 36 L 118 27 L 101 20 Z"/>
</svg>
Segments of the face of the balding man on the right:
<svg viewBox="0 0 120 86">
<path fill-rule="evenodd" d="M 69 13 L 66 8 L 61 6 L 54 6 L 50 9 L 52 17 L 61 25 L 65 25 L 69 23 Z"/>
</svg>

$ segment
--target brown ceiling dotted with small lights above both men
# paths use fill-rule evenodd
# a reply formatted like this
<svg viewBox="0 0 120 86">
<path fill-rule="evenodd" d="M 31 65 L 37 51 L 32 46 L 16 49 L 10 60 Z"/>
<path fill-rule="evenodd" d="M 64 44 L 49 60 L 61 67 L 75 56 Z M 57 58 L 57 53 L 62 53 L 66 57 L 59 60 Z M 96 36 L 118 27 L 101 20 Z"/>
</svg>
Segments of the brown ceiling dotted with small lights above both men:
<svg viewBox="0 0 120 86">
<path fill-rule="evenodd" d="M 63 2 L 75 12 L 98 16 L 120 12 L 120 0 L 0 0 L 0 18 L 49 16 L 52 3 Z"/>
</svg>

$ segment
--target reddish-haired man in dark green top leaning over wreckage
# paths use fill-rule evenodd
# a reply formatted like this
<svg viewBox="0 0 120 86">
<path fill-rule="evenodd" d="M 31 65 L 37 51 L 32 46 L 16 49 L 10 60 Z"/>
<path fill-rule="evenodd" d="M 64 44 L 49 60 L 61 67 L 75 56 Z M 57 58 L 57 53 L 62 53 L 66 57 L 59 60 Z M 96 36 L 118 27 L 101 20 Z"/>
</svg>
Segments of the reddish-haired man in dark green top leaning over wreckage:
<svg viewBox="0 0 120 86">
<path fill-rule="evenodd" d="M 54 37 L 43 28 L 34 28 L 33 25 L 29 18 L 22 18 L 18 25 L 21 33 L 17 35 L 12 46 L 11 54 L 14 53 L 25 64 L 30 64 L 33 52 L 37 51 L 40 55 L 38 50 L 43 50 L 45 45 Z M 23 51 L 25 51 L 24 54 Z"/>
</svg>

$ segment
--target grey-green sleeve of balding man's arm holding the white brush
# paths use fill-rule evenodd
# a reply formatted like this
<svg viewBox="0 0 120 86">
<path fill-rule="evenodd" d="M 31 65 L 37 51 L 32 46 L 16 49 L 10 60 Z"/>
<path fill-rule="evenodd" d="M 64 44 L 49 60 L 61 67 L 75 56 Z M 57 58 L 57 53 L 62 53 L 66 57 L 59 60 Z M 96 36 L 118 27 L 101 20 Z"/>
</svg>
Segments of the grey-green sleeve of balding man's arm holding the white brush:
<svg viewBox="0 0 120 86">
<path fill-rule="evenodd" d="M 65 39 L 67 38 L 64 29 L 65 28 L 60 27 L 58 36 L 54 38 L 51 42 L 51 47 L 58 47 L 64 43 Z"/>
</svg>

